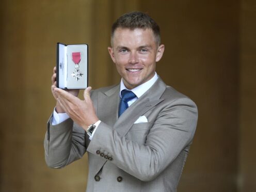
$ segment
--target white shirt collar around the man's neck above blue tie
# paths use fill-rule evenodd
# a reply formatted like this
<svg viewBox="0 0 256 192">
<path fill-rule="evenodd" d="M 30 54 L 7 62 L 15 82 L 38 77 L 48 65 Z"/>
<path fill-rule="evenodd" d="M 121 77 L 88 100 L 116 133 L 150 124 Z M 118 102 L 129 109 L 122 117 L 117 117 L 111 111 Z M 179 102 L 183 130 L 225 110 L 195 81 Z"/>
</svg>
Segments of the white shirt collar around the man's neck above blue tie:
<svg viewBox="0 0 256 192">
<path fill-rule="evenodd" d="M 158 78 L 158 75 L 156 74 L 155 72 L 155 75 L 149 79 L 149 81 L 131 89 L 131 91 L 133 91 L 134 94 L 136 94 L 137 98 L 140 98 L 142 94 L 144 94 L 147 90 L 150 89 L 150 87 L 152 87 L 152 85 L 156 82 Z M 121 96 L 121 91 L 124 90 L 124 89 L 127 89 L 123 83 L 123 78 L 121 79 L 121 83 L 120 83 L 120 98 L 122 98 Z M 130 90 L 130 89 L 127 89 L 127 90 Z"/>
</svg>

